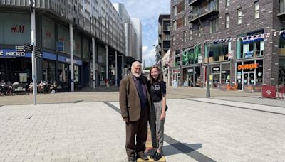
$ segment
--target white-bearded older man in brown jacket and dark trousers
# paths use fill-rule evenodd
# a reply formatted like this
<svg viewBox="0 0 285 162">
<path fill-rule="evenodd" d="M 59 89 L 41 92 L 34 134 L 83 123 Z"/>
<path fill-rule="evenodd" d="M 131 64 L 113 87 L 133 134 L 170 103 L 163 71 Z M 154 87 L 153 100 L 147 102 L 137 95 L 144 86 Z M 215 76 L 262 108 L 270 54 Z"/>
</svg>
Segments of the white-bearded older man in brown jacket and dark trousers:
<svg viewBox="0 0 285 162">
<path fill-rule="evenodd" d="M 135 61 L 130 75 L 120 81 L 119 100 L 121 116 L 125 121 L 125 149 L 128 161 L 135 161 L 135 158 L 148 160 L 144 152 L 147 140 L 147 119 L 150 113 L 150 95 L 147 90 L 147 79 L 142 76 L 140 62 Z"/>
</svg>

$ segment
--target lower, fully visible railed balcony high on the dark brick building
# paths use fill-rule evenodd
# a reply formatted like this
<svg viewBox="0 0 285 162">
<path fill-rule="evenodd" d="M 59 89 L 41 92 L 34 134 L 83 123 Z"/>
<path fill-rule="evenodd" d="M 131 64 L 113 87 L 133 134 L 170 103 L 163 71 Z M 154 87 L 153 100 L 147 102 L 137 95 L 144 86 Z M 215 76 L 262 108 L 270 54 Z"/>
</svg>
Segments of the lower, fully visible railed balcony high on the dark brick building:
<svg viewBox="0 0 285 162">
<path fill-rule="evenodd" d="M 219 13 L 218 3 L 204 6 L 202 8 L 196 8 L 197 11 L 193 11 L 188 16 L 189 23 L 195 23 L 200 19 L 214 16 Z"/>
</svg>

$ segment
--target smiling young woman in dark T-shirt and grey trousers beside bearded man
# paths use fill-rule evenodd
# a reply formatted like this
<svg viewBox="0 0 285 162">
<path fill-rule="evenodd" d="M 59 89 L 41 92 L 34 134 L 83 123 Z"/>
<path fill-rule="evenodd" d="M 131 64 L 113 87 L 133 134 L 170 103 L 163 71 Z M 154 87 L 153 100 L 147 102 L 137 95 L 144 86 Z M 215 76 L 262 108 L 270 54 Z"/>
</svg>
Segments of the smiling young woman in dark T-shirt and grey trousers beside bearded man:
<svg viewBox="0 0 285 162">
<path fill-rule="evenodd" d="M 155 152 L 150 158 L 155 161 L 162 157 L 162 146 L 165 124 L 165 107 L 166 107 L 166 86 L 160 75 L 160 69 L 157 66 L 150 68 L 150 80 L 148 82 L 152 107 L 150 111 L 150 130 L 152 134 L 152 147 Z"/>
</svg>

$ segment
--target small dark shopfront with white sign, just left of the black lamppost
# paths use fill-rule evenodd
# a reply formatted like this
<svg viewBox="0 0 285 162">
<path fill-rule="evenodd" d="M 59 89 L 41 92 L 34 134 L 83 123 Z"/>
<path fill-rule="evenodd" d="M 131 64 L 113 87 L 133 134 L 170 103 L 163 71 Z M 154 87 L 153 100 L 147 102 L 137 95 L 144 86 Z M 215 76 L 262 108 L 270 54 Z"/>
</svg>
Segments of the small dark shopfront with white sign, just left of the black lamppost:
<svg viewBox="0 0 285 162">
<path fill-rule="evenodd" d="M 192 65 L 190 67 L 183 68 L 183 86 L 200 87 L 200 70 L 201 65 Z"/>
</svg>

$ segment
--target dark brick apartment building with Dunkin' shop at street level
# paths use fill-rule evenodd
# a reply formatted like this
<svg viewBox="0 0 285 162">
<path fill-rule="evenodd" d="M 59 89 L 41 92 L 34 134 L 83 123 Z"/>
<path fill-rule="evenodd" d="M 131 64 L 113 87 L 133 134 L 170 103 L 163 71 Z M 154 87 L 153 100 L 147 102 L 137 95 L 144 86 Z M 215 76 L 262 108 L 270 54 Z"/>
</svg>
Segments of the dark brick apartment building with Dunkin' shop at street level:
<svg viewBox="0 0 285 162">
<path fill-rule="evenodd" d="M 283 0 L 171 3 L 172 77 L 180 85 L 205 87 L 208 62 L 212 88 L 284 84 Z"/>
</svg>

